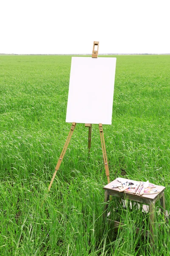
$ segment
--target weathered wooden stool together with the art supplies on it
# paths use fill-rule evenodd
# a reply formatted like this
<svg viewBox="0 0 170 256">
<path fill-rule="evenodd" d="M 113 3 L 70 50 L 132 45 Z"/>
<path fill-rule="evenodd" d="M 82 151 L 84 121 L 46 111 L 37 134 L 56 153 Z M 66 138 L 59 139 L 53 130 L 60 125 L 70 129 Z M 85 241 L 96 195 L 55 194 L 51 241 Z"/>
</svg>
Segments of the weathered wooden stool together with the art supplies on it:
<svg viewBox="0 0 170 256">
<path fill-rule="evenodd" d="M 147 180 L 146 182 L 143 181 L 136 181 L 136 180 L 128 180 L 125 178 L 117 178 L 113 180 L 108 185 L 104 186 L 103 189 L 105 190 L 105 208 L 104 208 L 104 220 L 106 217 L 110 215 L 107 212 L 108 204 L 109 204 L 109 197 L 116 196 L 117 198 L 122 198 L 122 204 L 125 204 L 125 201 L 135 201 L 138 203 L 143 204 L 143 209 L 149 210 L 149 217 L 150 217 L 150 230 L 144 232 L 144 229 L 140 229 L 136 227 L 136 233 L 143 233 L 145 236 L 150 234 L 150 242 L 151 245 L 154 246 L 154 228 L 155 228 L 155 212 L 156 212 L 156 202 L 160 200 L 161 209 L 160 212 L 162 213 L 162 217 L 166 220 L 168 214 L 165 209 L 165 198 L 164 198 L 164 186 L 154 185 L 153 183 L 149 183 Z M 123 206 L 123 205 L 122 205 Z M 124 224 L 114 221 L 114 227 L 124 227 Z"/>
</svg>

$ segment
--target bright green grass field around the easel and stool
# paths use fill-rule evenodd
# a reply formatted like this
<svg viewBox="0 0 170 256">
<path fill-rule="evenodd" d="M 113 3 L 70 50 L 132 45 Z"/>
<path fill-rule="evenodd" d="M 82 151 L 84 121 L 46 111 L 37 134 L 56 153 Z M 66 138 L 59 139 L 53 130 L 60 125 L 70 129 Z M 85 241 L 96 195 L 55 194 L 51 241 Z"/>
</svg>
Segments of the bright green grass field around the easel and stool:
<svg viewBox="0 0 170 256">
<path fill-rule="evenodd" d="M 103 125 L 111 180 L 166 186 L 169 211 L 170 56 L 116 58 L 112 125 Z M 135 227 L 148 229 L 148 216 L 135 207 L 116 213 L 124 229 L 103 223 L 107 179 L 98 125 L 88 160 L 88 128 L 77 124 L 48 193 L 71 127 L 70 66 L 71 56 L 0 56 L 0 255 L 169 256 L 170 224 L 159 215 L 155 253 L 147 238 L 134 236 Z"/>
</svg>

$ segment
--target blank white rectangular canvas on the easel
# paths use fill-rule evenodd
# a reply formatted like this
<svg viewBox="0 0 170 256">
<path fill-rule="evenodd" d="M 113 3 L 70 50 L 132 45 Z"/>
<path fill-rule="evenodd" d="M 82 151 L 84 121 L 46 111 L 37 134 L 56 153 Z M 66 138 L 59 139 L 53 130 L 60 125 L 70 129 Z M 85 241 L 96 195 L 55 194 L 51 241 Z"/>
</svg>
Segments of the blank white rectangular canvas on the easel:
<svg viewBox="0 0 170 256">
<path fill-rule="evenodd" d="M 66 122 L 111 125 L 116 58 L 72 57 Z"/>
</svg>

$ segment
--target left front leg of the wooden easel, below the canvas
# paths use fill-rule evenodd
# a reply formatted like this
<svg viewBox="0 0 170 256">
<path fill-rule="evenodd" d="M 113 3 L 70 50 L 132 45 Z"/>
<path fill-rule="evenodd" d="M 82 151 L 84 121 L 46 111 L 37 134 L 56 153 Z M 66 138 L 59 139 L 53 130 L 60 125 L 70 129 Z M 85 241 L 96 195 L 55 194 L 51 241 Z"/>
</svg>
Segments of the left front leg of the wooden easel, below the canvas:
<svg viewBox="0 0 170 256">
<path fill-rule="evenodd" d="M 52 185 L 52 183 L 53 183 L 53 181 L 54 181 L 54 178 L 55 178 L 55 176 L 56 176 L 56 173 L 57 173 L 57 171 L 59 170 L 59 166 L 61 165 L 62 159 L 63 159 L 63 157 L 64 157 L 64 155 L 65 155 L 65 152 L 66 152 L 66 150 L 67 150 L 67 148 L 68 148 L 68 144 L 69 144 L 69 142 L 70 142 L 70 140 L 71 140 L 71 136 L 73 135 L 75 126 L 76 126 L 76 123 L 73 122 L 72 125 L 71 125 L 71 129 L 70 129 L 70 131 L 69 131 L 67 140 L 66 140 L 66 142 L 65 142 L 65 145 L 64 145 L 64 147 L 63 147 L 63 149 L 62 149 L 62 152 L 61 152 L 61 154 L 60 154 L 60 157 L 59 157 L 57 166 L 56 166 L 56 168 L 55 168 L 54 175 L 53 175 L 52 180 L 51 180 L 51 182 L 50 182 L 50 185 L 49 185 L 49 187 L 48 187 L 48 191 L 50 191 L 50 188 L 51 188 L 51 185 Z"/>
</svg>

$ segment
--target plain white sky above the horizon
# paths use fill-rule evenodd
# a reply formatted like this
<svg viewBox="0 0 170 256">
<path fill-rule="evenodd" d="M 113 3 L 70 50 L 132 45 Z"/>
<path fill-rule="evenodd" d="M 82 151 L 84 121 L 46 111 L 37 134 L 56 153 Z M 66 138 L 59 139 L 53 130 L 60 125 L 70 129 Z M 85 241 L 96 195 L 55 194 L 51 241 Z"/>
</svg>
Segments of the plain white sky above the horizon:
<svg viewBox="0 0 170 256">
<path fill-rule="evenodd" d="M 170 53 L 170 0 L 0 0 L 0 53 Z"/>
</svg>

